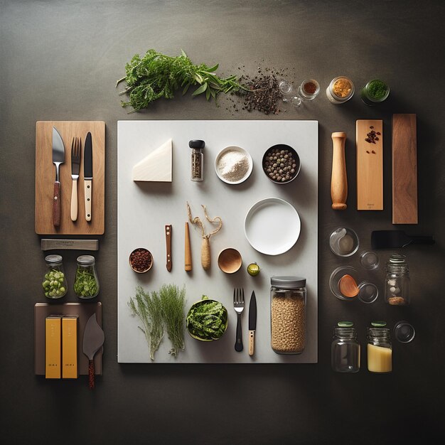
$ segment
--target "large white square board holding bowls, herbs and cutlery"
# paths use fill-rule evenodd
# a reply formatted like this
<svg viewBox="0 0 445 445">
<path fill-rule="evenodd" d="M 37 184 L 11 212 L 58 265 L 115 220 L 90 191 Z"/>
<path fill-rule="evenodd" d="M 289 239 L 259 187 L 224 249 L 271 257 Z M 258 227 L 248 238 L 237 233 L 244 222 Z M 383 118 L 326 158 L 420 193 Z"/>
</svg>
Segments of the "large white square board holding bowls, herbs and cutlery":
<svg viewBox="0 0 445 445">
<path fill-rule="evenodd" d="M 173 181 L 150 183 L 132 181 L 133 166 L 168 139 L 173 140 Z M 191 181 L 191 149 L 188 141 L 203 139 L 204 181 Z M 287 144 L 301 159 L 299 176 L 278 185 L 262 171 L 262 156 L 275 144 Z M 241 146 L 252 156 L 250 178 L 239 185 L 220 181 L 215 158 L 226 146 Z M 317 121 L 119 121 L 117 122 L 117 309 L 119 363 L 317 363 L 317 231 L 318 231 L 318 122 Z M 301 219 L 301 233 L 294 247 L 284 254 L 269 256 L 254 250 L 245 237 L 247 211 L 264 198 L 282 198 L 291 203 Z M 184 271 L 184 223 L 188 220 L 186 202 L 193 216 L 204 219 L 200 205 L 207 206 L 210 218 L 220 216 L 223 228 L 210 239 L 210 270 L 200 265 L 200 231 L 190 225 L 193 271 Z M 173 225 L 173 269 L 166 269 L 165 225 Z M 277 220 L 269 230 L 280 230 L 286 221 Z M 209 223 L 205 226 L 210 230 Z M 146 247 L 154 265 L 145 274 L 129 267 L 129 254 Z M 218 268 L 218 252 L 235 247 L 242 254 L 242 268 L 224 274 Z M 257 262 L 257 277 L 247 274 L 247 264 Z M 306 278 L 306 349 L 300 355 L 279 355 L 270 346 L 270 277 L 296 275 Z M 219 341 L 197 341 L 185 333 L 186 348 L 176 358 L 168 354 L 170 341 L 165 335 L 155 360 L 149 358 L 141 322 L 132 316 L 128 301 L 136 286 L 146 291 L 162 284 L 186 286 L 186 312 L 203 294 L 217 299 L 229 313 L 228 328 Z M 235 351 L 236 313 L 233 289 L 245 290 L 242 314 L 244 350 Z M 257 296 L 255 353 L 248 354 L 248 312 L 252 291 Z"/>
</svg>

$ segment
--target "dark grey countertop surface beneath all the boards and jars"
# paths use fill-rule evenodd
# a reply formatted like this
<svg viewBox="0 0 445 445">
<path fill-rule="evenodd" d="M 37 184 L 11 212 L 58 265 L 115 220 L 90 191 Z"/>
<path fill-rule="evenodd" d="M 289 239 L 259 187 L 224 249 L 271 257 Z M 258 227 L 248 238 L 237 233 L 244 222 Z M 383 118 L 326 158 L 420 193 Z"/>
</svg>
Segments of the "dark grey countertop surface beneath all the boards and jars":
<svg viewBox="0 0 445 445">
<path fill-rule="evenodd" d="M 444 436 L 444 19 L 442 1 L 0 1 L 1 431 L 9 444 L 386 444 Z M 127 114 L 115 81 L 134 53 L 181 48 L 221 73 L 288 68 L 315 77 L 322 92 L 297 111 L 265 116 L 202 98 L 160 101 Z M 380 76 L 392 87 L 381 107 L 358 95 L 341 107 L 323 93 L 336 75 L 360 87 Z M 392 229 L 391 117 L 417 114 L 419 224 L 436 237 L 406 250 L 412 304 L 343 304 L 328 288 L 341 262 L 331 230 Z M 355 120 L 384 119 L 385 210 L 355 210 Z M 318 364 L 119 365 L 117 363 L 117 120 L 316 119 L 319 122 Z M 33 305 L 43 301 L 44 254 L 34 232 L 35 127 L 38 120 L 106 123 L 106 229 L 97 269 L 106 335 L 104 374 L 47 382 L 33 375 Z M 331 210 L 331 132 L 345 131 L 350 184 L 344 212 Z M 390 251 L 382 251 L 385 261 Z M 68 275 L 75 252 L 64 254 Z M 356 261 L 356 260 L 355 260 Z M 382 280 L 383 270 L 378 277 Z M 77 301 L 70 290 L 65 301 Z M 394 372 L 331 371 L 332 327 L 352 319 L 411 321 L 417 337 L 394 344 Z M 411 441 L 407 443 L 412 443 Z"/>
</svg>

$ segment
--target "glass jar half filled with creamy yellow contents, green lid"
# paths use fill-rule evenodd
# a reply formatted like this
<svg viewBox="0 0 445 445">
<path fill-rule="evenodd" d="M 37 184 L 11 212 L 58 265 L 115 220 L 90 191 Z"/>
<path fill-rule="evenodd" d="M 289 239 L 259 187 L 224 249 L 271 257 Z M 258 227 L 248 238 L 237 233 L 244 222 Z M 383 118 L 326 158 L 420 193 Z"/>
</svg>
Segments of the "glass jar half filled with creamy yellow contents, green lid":
<svg viewBox="0 0 445 445">
<path fill-rule="evenodd" d="M 388 328 L 368 328 L 368 371 L 392 372 L 392 345 Z"/>
</svg>

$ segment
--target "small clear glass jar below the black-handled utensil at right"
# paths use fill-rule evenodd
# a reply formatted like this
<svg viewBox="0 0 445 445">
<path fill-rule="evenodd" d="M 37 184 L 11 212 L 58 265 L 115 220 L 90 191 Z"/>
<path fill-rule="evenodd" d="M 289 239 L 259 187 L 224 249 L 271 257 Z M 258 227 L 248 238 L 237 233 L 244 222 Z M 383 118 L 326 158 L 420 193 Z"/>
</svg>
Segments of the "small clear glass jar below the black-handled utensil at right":
<svg viewBox="0 0 445 445">
<path fill-rule="evenodd" d="M 402 254 L 392 254 L 386 263 L 385 301 L 392 306 L 409 304 L 409 269 Z"/>
</svg>

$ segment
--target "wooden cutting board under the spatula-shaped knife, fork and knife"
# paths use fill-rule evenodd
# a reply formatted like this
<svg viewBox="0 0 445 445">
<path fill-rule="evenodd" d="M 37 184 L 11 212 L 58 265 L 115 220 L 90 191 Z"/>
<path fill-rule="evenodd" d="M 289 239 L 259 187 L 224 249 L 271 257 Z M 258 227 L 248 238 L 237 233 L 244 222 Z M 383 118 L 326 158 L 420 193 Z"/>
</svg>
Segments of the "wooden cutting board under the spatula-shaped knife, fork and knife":
<svg viewBox="0 0 445 445">
<path fill-rule="evenodd" d="M 63 139 L 65 163 L 60 165 L 60 227 L 53 225 L 53 127 Z M 92 218 L 85 220 L 83 149 L 87 132 L 92 136 Z M 70 218 L 71 206 L 71 143 L 82 139 L 80 175 L 77 181 L 77 220 Z M 36 233 L 39 235 L 102 235 L 105 189 L 105 123 L 100 121 L 39 121 L 36 122 Z"/>
</svg>

